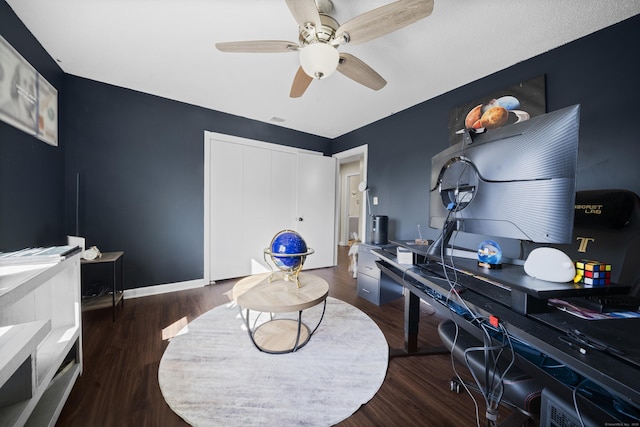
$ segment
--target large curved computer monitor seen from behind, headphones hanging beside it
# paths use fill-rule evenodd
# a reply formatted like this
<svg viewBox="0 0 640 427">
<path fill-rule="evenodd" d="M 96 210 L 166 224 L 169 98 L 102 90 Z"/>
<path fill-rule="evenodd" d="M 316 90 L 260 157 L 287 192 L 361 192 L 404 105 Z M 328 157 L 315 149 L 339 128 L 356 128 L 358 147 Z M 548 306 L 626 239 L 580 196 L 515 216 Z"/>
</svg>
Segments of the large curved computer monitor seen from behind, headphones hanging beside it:
<svg viewBox="0 0 640 427">
<path fill-rule="evenodd" d="M 537 243 L 569 243 L 573 231 L 580 106 L 463 141 L 431 161 L 429 226 Z"/>
</svg>

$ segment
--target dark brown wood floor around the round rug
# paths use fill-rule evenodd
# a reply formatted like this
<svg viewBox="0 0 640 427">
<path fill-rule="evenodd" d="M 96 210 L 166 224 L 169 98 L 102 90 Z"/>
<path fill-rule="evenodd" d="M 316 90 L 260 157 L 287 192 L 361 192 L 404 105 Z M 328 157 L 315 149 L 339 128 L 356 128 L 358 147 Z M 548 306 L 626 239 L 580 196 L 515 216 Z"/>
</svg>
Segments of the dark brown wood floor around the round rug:
<svg viewBox="0 0 640 427">
<path fill-rule="evenodd" d="M 403 346 L 403 299 L 378 307 L 356 296 L 356 280 L 347 272 L 346 248 L 339 265 L 314 270 L 330 284 L 329 294 L 367 313 L 391 348 Z M 112 322 L 111 310 L 83 314 L 84 372 L 75 384 L 57 426 L 187 425 L 165 403 L 158 386 L 158 365 L 168 338 L 184 324 L 230 300 L 235 280 L 204 288 L 128 299 Z M 437 344 L 439 320 L 422 304 L 420 345 Z M 366 405 L 339 425 L 474 426 L 474 405 L 466 394 L 449 389 L 449 355 L 393 358 L 384 384 Z M 480 404 L 480 425 L 485 425 Z M 301 409 L 303 410 L 303 409 Z M 508 415 L 501 410 L 501 418 Z"/>
</svg>

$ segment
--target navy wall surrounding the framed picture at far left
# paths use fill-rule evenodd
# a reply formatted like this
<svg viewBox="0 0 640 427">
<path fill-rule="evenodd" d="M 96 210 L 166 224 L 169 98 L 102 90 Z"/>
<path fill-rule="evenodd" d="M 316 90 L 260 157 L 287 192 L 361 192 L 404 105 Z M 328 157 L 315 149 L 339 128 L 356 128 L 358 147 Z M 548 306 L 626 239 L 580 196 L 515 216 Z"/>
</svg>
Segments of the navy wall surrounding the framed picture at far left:
<svg viewBox="0 0 640 427">
<path fill-rule="evenodd" d="M 4 1 L 0 35 L 64 96 L 64 74 Z M 63 130 L 59 139 L 53 147 L 0 122 L 0 251 L 65 243 Z"/>
</svg>

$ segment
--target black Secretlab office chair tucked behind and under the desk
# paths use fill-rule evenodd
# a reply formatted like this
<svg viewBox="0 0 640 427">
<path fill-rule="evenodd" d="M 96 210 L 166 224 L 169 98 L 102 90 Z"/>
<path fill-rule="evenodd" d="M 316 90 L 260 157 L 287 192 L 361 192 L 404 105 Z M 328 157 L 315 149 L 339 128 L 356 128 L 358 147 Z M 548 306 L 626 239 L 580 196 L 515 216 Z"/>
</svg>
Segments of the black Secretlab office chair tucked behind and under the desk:
<svg viewBox="0 0 640 427">
<path fill-rule="evenodd" d="M 610 263 L 613 283 L 631 286 L 624 298 L 640 297 L 640 198 L 627 190 L 589 190 L 576 193 L 574 242 L 552 245 L 570 258 L 589 259 Z M 540 246 L 523 242 L 522 259 Z M 457 340 L 455 339 L 458 331 Z M 451 320 L 438 327 L 444 345 L 459 361 L 465 361 L 464 352 L 471 347 L 481 347 L 483 342 L 475 336 L 456 328 Z M 455 340 L 455 342 L 454 342 Z M 482 352 L 470 353 L 469 369 L 477 378 L 485 378 L 485 357 Z M 495 368 L 504 372 L 505 364 Z M 489 372 L 494 375 L 496 372 Z M 570 371 L 564 375 L 570 375 Z M 453 383 L 452 383 L 453 384 Z M 532 423 L 539 417 L 542 385 L 512 366 L 503 379 L 503 403 L 516 409 L 500 425 L 517 426 Z"/>
</svg>

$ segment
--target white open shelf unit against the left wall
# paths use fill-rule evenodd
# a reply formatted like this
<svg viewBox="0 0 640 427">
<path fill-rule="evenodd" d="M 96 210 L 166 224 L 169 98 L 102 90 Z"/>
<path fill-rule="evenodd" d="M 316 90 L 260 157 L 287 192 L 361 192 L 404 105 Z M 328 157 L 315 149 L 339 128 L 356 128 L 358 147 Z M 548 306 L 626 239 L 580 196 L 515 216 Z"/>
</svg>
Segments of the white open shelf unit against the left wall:
<svg viewBox="0 0 640 427">
<path fill-rule="evenodd" d="M 0 267 L 0 425 L 54 426 L 82 373 L 80 252 Z"/>
</svg>

